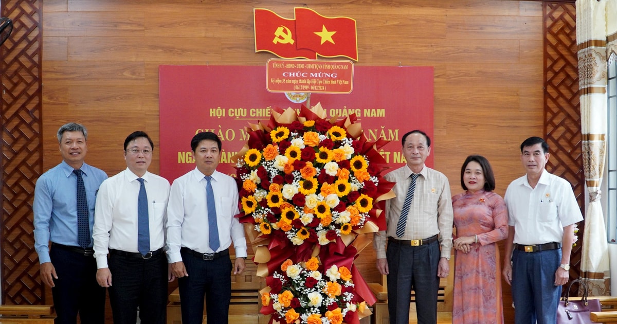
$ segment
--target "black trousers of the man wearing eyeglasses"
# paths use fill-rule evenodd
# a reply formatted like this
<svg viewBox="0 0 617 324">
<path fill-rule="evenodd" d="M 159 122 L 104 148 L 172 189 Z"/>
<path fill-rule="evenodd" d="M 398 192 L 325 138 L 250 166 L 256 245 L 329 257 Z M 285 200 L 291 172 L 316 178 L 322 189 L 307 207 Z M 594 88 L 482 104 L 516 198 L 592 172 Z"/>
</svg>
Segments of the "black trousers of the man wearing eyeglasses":
<svg viewBox="0 0 617 324">
<path fill-rule="evenodd" d="M 114 324 L 135 324 L 137 308 L 142 324 L 165 324 L 167 310 L 167 258 L 165 252 L 151 259 L 110 252 Z"/>
</svg>

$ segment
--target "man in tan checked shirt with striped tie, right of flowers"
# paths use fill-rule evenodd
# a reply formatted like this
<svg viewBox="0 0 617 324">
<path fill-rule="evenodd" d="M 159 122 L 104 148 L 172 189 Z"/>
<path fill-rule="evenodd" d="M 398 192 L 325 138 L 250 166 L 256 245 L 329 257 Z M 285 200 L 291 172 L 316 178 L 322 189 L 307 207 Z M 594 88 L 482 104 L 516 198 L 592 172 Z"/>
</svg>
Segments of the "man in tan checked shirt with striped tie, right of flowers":
<svg viewBox="0 0 617 324">
<path fill-rule="evenodd" d="M 402 145 L 407 164 L 385 176 L 395 183 L 392 190 L 396 197 L 386 201 L 387 231 L 375 234 L 377 268 L 387 275 L 390 323 L 409 323 L 413 289 L 418 323 L 435 324 L 439 278 L 450 272 L 450 184 L 443 173 L 424 165 L 431 154 L 431 139 L 426 133 L 410 131 L 403 136 Z"/>
</svg>

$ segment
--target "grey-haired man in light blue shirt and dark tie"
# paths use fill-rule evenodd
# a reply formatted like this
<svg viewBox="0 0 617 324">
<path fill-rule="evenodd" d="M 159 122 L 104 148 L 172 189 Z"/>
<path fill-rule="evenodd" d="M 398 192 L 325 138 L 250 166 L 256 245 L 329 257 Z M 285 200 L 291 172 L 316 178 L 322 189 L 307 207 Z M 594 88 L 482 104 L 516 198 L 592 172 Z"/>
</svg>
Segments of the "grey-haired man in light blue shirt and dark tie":
<svg viewBox="0 0 617 324">
<path fill-rule="evenodd" d="M 96 193 L 107 174 L 84 162 L 88 131 L 83 125 L 62 125 L 57 137 L 62 162 L 43 173 L 35 188 L 34 235 L 41 280 L 51 287 L 56 324 L 75 324 L 77 314 L 81 323 L 102 324 L 105 289 L 96 282 L 92 228 Z M 77 189 L 81 181 L 85 190 Z M 85 198 L 81 222 L 78 220 L 80 194 L 82 201 Z M 78 230 L 79 225 L 83 226 Z"/>
</svg>

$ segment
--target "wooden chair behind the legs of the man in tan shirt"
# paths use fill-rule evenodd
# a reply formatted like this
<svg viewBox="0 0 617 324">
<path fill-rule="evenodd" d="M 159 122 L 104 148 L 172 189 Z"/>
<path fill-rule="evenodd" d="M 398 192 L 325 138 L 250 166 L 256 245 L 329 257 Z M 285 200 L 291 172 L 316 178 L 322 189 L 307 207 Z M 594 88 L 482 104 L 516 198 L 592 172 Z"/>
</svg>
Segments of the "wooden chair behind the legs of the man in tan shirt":
<svg viewBox="0 0 617 324">
<path fill-rule="evenodd" d="M 441 317 L 450 317 L 452 319 L 452 291 L 454 289 L 454 255 L 450 257 L 450 275 L 447 278 L 441 278 L 439 281 L 439 292 L 437 293 L 437 312 L 444 312 Z M 381 276 L 381 283 L 369 283 L 369 288 L 377 297 L 377 302 L 373 305 L 373 321 L 374 324 L 389 324 L 390 316 L 387 310 L 387 279 L 386 276 Z M 412 291 L 409 305 L 409 312 L 416 312 L 416 297 Z"/>
</svg>

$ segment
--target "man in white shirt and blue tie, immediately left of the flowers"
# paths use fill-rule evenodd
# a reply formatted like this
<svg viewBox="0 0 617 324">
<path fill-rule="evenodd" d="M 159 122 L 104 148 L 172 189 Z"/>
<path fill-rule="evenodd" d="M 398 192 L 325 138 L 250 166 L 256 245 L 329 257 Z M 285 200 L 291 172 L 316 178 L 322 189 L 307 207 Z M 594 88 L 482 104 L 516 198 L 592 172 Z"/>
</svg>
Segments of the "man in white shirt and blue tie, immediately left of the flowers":
<svg viewBox="0 0 617 324">
<path fill-rule="evenodd" d="M 191 140 L 196 168 L 173 181 L 167 207 L 167 247 L 178 277 L 182 323 L 201 324 L 204 294 L 208 323 L 228 323 L 231 271 L 242 273 L 246 259 L 244 227 L 238 214 L 238 186 L 216 170 L 221 140 L 198 133 Z M 233 241 L 236 260 L 231 264 Z"/>
</svg>

